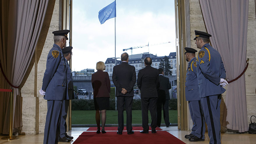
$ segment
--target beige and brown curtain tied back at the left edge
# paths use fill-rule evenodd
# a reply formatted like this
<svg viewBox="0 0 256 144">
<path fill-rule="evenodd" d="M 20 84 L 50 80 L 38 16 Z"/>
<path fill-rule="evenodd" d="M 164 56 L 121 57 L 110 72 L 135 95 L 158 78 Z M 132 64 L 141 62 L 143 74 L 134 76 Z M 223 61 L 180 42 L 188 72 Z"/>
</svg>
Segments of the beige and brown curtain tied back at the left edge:
<svg viewBox="0 0 256 144">
<path fill-rule="evenodd" d="M 1 1 L 0 60 L 8 80 L 19 86 L 35 52 L 48 0 Z M 0 75 L 0 88 L 10 89 Z M 8 134 L 9 95 L 0 93 L 0 133 Z M 14 88 L 13 128 L 22 127 L 22 100 L 19 88 Z"/>
</svg>

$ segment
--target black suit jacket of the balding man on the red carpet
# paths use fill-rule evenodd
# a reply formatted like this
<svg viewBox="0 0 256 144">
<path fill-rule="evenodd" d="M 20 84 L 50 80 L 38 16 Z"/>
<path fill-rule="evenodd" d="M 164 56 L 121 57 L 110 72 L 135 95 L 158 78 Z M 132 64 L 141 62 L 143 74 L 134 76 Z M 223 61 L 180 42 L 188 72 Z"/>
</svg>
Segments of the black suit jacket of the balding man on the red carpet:
<svg viewBox="0 0 256 144">
<path fill-rule="evenodd" d="M 141 90 L 141 98 L 158 97 L 158 70 L 151 65 L 139 70 L 137 85 Z"/>
</svg>

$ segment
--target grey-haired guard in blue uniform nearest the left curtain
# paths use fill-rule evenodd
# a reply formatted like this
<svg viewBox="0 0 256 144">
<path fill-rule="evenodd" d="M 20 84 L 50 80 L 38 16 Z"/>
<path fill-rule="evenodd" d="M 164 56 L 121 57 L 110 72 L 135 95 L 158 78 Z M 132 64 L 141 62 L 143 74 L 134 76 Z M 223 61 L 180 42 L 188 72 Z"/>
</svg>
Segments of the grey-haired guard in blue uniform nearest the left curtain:
<svg viewBox="0 0 256 144">
<path fill-rule="evenodd" d="M 42 84 L 42 91 L 45 91 L 44 99 L 47 100 L 44 144 L 58 143 L 63 100 L 67 99 L 67 67 L 62 49 L 66 45 L 69 30 L 52 33 L 54 45 L 47 56 Z"/>
</svg>

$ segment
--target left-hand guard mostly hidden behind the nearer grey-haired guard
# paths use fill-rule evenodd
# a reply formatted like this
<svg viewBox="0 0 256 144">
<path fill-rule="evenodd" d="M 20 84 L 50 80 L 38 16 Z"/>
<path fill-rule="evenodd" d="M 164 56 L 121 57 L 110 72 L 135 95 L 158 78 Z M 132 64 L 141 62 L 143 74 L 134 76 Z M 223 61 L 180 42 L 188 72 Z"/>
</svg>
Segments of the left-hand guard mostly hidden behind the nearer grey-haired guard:
<svg viewBox="0 0 256 144">
<path fill-rule="evenodd" d="M 69 136 L 66 133 L 67 132 L 66 118 L 67 118 L 69 100 L 74 99 L 72 72 L 68 64 L 68 61 L 70 61 L 72 56 L 72 48 L 73 47 L 65 47 L 62 49 L 62 53 L 65 57 L 66 70 L 67 70 L 67 97 L 65 100 L 63 100 L 63 105 L 62 105 L 61 126 L 60 126 L 60 136 L 59 136 L 60 142 L 67 142 L 69 141 L 68 139 L 72 140 L 74 138 L 73 136 Z"/>
</svg>

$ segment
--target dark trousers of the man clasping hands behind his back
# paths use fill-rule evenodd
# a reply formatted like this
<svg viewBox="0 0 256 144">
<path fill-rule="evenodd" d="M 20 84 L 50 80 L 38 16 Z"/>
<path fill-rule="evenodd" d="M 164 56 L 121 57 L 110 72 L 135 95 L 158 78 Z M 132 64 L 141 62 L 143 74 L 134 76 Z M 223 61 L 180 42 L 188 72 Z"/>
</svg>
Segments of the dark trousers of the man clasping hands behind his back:
<svg viewBox="0 0 256 144">
<path fill-rule="evenodd" d="M 133 97 L 117 97 L 117 107 L 118 107 L 118 131 L 122 132 L 124 129 L 124 105 L 126 109 L 126 129 L 127 132 L 132 131 L 132 100 Z"/>
</svg>

